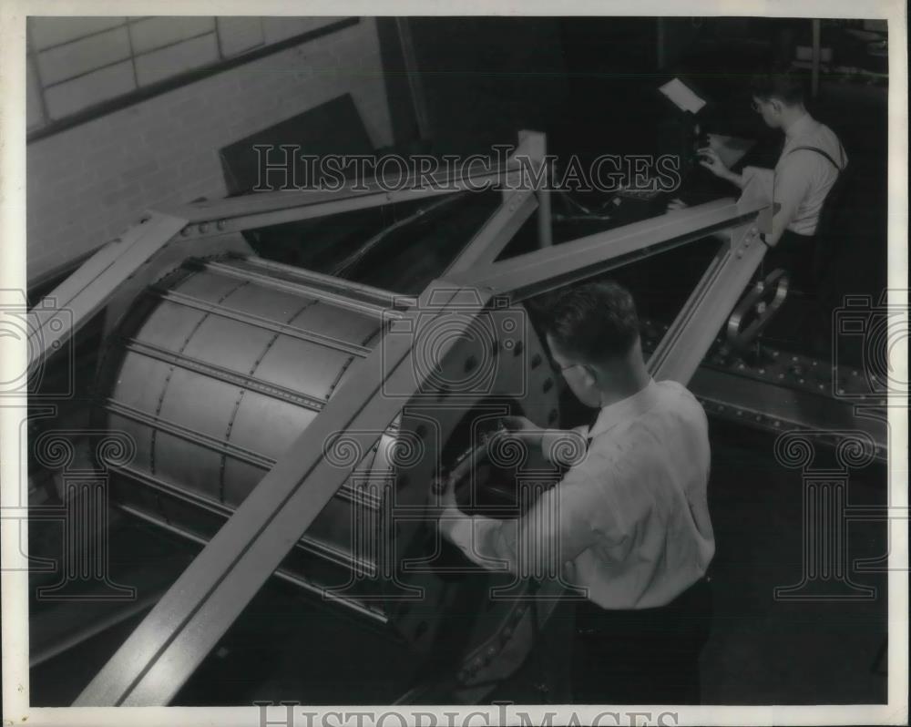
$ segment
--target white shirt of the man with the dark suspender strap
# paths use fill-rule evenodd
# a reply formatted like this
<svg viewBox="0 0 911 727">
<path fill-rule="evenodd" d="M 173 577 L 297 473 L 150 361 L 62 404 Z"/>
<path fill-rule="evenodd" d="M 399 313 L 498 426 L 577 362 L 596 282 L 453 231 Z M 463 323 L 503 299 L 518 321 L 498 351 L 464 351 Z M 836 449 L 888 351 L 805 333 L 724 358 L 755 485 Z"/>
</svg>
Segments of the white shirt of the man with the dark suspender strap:
<svg viewBox="0 0 911 727">
<path fill-rule="evenodd" d="M 834 131 L 804 114 L 785 132 L 784 146 L 775 169 L 746 167 L 744 179 L 752 177 L 771 194 L 782 208 L 774 217 L 775 229 L 787 229 L 799 235 L 812 235 L 819 222 L 825 196 L 832 189 L 839 171 L 817 151 L 796 147 L 821 148 L 841 169 L 848 159 Z"/>
</svg>

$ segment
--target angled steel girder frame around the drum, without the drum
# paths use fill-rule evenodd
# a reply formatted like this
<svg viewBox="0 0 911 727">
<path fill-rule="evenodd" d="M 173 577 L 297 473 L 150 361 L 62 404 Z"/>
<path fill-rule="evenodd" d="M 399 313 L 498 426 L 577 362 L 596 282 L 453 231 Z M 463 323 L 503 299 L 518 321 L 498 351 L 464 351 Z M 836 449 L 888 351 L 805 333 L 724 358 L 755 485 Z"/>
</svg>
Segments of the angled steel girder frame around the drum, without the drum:
<svg viewBox="0 0 911 727">
<path fill-rule="evenodd" d="M 374 182 L 365 189 L 264 193 L 152 211 L 48 296 L 56 299 L 58 310 L 70 314 L 58 316 L 63 325 L 52 323 L 54 315 L 43 315 L 33 322 L 29 343 L 37 352 L 35 363 L 53 353 L 116 295 L 118 303 L 122 302 L 121 288 L 131 287 L 126 285 L 128 280 L 169 246 L 172 261 L 189 259 L 199 254 L 202 239 L 211 238 L 213 243 L 236 239 L 241 230 L 470 189 L 485 181 L 521 183 L 523 169 L 517 157 L 525 155 L 536 164 L 543 163 L 545 138 L 537 132 L 521 132 L 519 142 L 505 169 L 445 179 L 444 191 L 424 186 L 426 179 L 409 179 L 409 189 L 396 191 Z M 496 261 L 536 210 L 540 249 Z M 416 300 L 405 299 L 407 307 L 401 316 L 411 318 L 415 326 L 420 316 L 425 325 L 428 319 L 445 315 L 447 306 L 464 300 L 468 292 L 475 297 L 476 306 L 466 316 L 466 307 L 460 303 L 459 312 L 463 320 L 470 319 L 495 296 L 521 302 L 707 235 L 730 231 L 649 361 L 656 378 L 685 384 L 762 261 L 766 248 L 758 234 L 767 230 L 771 219 L 767 200 L 718 200 L 552 246 L 549 211 L 547 189 L 530 189 L 528 185 L 505 189 L 501 204 L 459 258 Z M 383 392 L 406 391 L 423 384 L 415 382 L 413 374 L 413 343 L 396 338 L 384 347 L 384 353 L 377 347 L 356 364 L 358 375 L 343 384 L 322 414 L 97 673 L 74 706 L 161 705 L 171 701 L 342 485 L 347 473 L 326 462 L 323 445 L 327 438 L 347 430 L 375 432 L 359 434 L 364 447 L 373 445 L 402 405 L 401 400 Z M 451 352 L 455 345 L 450 339 L 440 353 Z M 504 659 L 508 660 L 508 654 Z M 508 668 L 501 660 L 480 665 L 472 676 L 477 681 L 503 671 Z"/>
</svg>

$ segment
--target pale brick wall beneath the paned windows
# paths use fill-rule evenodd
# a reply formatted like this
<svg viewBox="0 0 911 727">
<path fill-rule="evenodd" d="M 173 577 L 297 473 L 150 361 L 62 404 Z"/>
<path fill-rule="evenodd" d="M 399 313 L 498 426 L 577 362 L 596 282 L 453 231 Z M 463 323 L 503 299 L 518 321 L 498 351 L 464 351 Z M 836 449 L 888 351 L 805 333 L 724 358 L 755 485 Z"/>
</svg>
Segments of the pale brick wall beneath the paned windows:
<svg viewBox="0 0 911 727">
<path fill-rule="evenodd" d="M 372 18 L 179 87 L 26 152 L 27 269 L 110 240 L 156 205 L 224 196 L 218 149 L 351 93 L 375 147 L 392 143 Z"/>
</svg>

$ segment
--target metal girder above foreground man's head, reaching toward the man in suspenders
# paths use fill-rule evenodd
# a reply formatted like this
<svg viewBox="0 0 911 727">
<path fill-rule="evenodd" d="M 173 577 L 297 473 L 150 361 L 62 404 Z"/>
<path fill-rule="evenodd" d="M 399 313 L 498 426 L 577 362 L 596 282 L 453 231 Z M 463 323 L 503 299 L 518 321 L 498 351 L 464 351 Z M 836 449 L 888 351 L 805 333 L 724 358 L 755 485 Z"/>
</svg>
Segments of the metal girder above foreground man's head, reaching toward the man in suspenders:
<svg viewBox="0 0 911 727">
<path fill-rule="evenodd" d="M 753 221 L 768 207 L 760 201 L 738 204 L 717 200 L 698 207 L 674 210 L 658 218 L 597 232 L 578 240 L 528 252 L 483 270 L 456 273 L 450 282 L 480 289 L 511 292 L 520 302 L 644 259 L 678 245 L 700 240 L 713 232 Z"/>
</svg>

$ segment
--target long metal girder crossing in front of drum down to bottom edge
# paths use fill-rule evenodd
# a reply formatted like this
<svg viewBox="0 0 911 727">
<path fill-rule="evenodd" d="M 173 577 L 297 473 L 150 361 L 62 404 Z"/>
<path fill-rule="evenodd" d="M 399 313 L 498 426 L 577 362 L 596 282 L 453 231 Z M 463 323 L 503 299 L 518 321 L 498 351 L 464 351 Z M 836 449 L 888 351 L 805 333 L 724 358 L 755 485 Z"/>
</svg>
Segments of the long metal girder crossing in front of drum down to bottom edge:
<svg viewBox="0 0 911 727">
<path fill-rule="evenodd" d="M 417 331 L 419 325 L 432 325 L 434 314 L 445 314 L 446 304 L 458 294 L 455 287 L 436 281 L 404 315 L 413 319 Z M 487 300 L 476 298 L 477 312 Z M 455 337 L 446 339 L 440 356 L 454 344 Z M 354 433 L 362 451 L 369 451 L 403 404 L 399 396 L 384 394 L 384 384 L 396 392 L 414 391 L 421 384 L 411 367 L 411 352 L 411 339 L 396 337 L 355 364 L 359 375 L 343 384 L 75 706 L 167 704 L 173 698 L 350 475 L 326 460 L 332 437 Z"/>
</svg>

